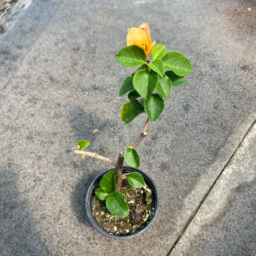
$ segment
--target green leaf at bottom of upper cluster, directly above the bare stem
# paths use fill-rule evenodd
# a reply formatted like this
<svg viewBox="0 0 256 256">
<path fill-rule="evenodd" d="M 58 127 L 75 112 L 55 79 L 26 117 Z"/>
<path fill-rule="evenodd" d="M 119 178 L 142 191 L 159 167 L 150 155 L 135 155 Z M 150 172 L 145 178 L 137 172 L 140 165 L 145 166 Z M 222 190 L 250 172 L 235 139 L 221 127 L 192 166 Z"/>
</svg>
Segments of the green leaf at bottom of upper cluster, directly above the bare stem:
<svg viewBox="0 0 256 256">
<path fill-rule="evenodd" d="M 145 109 L 149 120 L 154 122 L 164 110 L 164 100 L 157 93 L 151 94 L 145 101 Z"/>
</svg>

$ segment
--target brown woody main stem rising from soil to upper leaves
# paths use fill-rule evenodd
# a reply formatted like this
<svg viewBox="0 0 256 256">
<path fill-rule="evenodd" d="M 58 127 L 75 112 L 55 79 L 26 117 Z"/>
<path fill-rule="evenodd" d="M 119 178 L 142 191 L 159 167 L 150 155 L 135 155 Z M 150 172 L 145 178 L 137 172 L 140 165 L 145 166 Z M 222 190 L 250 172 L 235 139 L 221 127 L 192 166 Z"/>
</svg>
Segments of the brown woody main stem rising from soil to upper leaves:
<svg viewBox="0 0 256 256">
<path fill-rule="evenodd" d="M 139 143 L 142 141 L 142 139 L 144 137 L 147 136 L 146 133 L 146 129 L 149 123 L 149 118 L 147 119 L 143 131 L 141 132 L 139 138 L 137 139 L 137 141 L 135 141 L 135 143 L 132 145 L 134 148 L 138 147 Z M 123 163 L 124 163 L 124 152 L 119 153 L 117 162 L 116 162 L 116 191 L 120 191 L 121 189 L 121 184 L 122 184 L 122 180 L 123 178 Z"/>
</svg>

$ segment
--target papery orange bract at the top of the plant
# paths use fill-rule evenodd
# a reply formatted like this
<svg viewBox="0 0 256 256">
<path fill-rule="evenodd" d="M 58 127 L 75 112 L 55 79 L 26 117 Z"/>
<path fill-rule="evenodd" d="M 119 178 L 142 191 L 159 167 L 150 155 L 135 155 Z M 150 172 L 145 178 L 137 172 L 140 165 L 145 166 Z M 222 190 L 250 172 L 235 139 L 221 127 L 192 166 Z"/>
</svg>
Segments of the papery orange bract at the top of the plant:
<svg viewBox="0 0 256 256">
<path fill-rule="evenodd" d="M 150 29 L 148 23 L 141 24 L 138 28 L 127 29 L 128 34 L 126 38 L 127 46 L 137 45 L 146 53 L 146 58 L 153 50 L 156 41 L 151 43 Z"/>
</svg>

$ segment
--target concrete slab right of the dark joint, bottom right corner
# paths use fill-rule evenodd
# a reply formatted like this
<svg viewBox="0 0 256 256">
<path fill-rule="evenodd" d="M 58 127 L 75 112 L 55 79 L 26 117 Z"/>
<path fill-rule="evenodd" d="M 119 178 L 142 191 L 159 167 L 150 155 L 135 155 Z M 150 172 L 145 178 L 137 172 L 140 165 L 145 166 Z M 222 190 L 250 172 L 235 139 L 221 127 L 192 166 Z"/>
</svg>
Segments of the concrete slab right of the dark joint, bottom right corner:
<svg viewBox="0 0 256 256">
<path fill-rule="evenodd" d="M 170 255 L 255 255 L 256 124 Z"/>
</svg>

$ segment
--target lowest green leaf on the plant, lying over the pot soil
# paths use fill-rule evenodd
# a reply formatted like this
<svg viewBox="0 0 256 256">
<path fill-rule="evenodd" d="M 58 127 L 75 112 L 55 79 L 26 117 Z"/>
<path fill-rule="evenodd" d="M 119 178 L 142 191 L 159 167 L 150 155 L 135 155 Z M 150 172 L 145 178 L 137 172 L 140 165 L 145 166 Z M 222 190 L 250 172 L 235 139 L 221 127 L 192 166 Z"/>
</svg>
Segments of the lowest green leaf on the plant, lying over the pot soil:
<svg viewBox="0 0 256 256">
<path fill-rule="evenodd" d="M 106 199 L 107 209 L 115 216 L 126 217 L 129 214 L 129 208 L 124 200 L 124 194 L 116 192 L 114 195 L 108 195 Z"/>
</svg>

